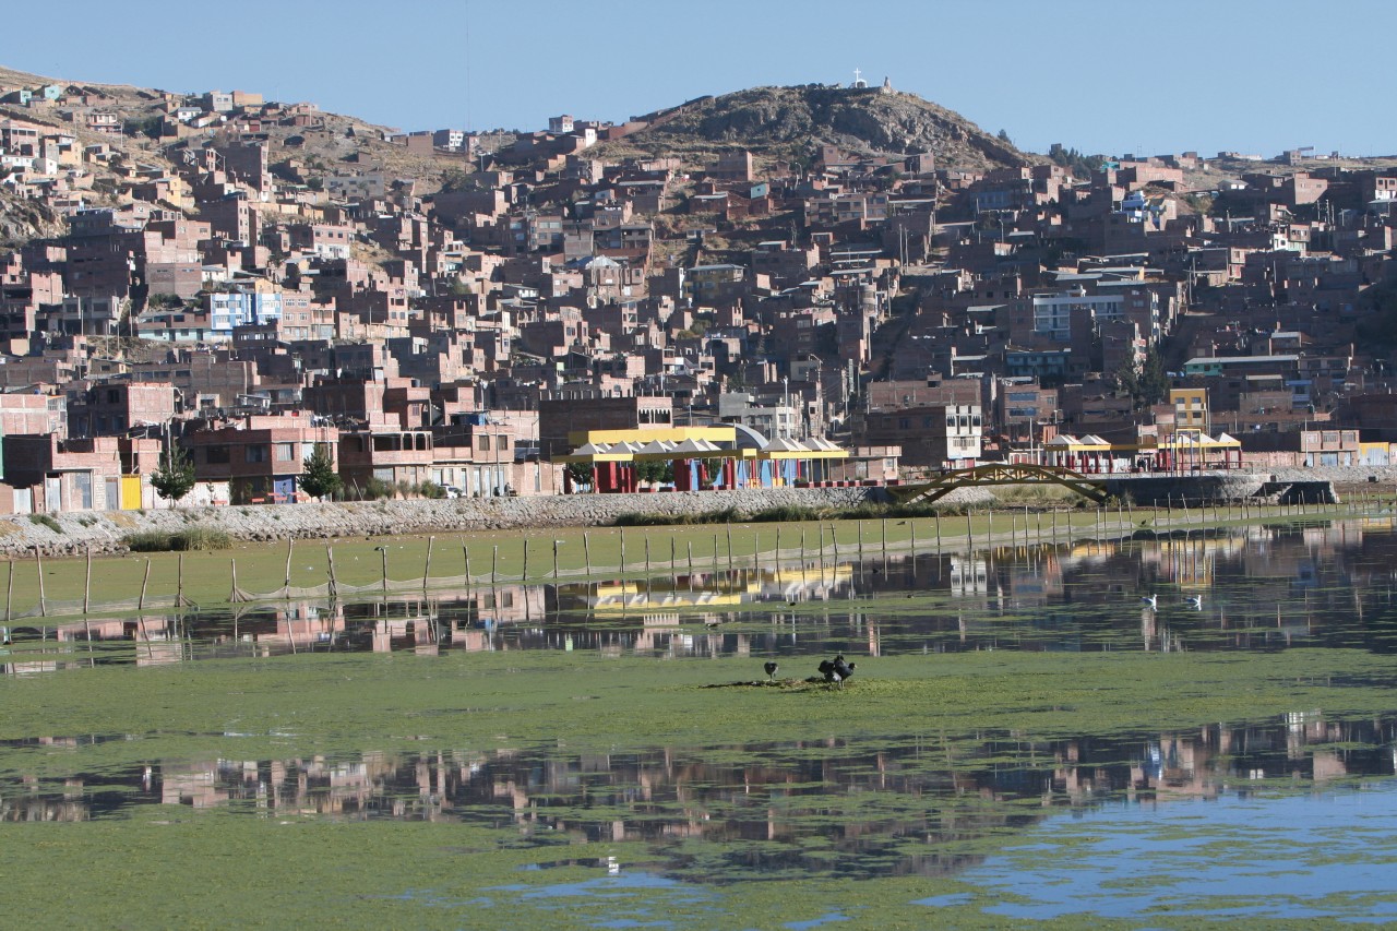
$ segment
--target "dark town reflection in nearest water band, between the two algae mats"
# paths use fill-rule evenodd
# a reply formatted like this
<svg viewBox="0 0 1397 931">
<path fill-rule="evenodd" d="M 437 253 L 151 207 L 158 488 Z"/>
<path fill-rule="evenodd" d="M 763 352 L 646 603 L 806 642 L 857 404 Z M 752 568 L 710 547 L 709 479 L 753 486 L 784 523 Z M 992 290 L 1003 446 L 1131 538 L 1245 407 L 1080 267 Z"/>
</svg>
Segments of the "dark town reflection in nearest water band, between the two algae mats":
<svg viewBox="0 0 1397 931">
<path fill-rule="evenodd" d="M 627 753 L 370 752 L 163 760 L 59 779 L 0 770 L 0 819 L 81 821 L 154 804 L 458 819 L 545 844 L 644 840 L 662 869 L 690 879 L 939 875 L 978 863 L 983 849 L 975 842 L 1055 809 L 1245 797 L 1259 780 L 1296 787 L 1391 776 L 1394 735 L 1397 717 L 1296 712 L 1189 734 L 1051 742 L 1002 734 Z M 27 748 L 98 739 L 11 741 L 3 749 L 20 759 Z"/>
</svg>

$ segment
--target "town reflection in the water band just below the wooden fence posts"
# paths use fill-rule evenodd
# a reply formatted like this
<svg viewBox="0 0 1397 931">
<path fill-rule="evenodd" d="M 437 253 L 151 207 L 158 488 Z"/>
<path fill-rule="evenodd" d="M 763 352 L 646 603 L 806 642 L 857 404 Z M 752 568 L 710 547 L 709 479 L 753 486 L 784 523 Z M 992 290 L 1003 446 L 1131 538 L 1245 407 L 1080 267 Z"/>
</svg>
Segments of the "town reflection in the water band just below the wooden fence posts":
<svg viewBox="0 0 1397 931">
<path fill-rule="evenodd" d="M 1006 547 L 356 604 L 27 621 L 6 672 L 320 650 L 643 656 L 1014 650 L 1397 651 L 1390 520 Z M 1141 609 L 1141 597 L 1155 607 Z"/>
</svg>

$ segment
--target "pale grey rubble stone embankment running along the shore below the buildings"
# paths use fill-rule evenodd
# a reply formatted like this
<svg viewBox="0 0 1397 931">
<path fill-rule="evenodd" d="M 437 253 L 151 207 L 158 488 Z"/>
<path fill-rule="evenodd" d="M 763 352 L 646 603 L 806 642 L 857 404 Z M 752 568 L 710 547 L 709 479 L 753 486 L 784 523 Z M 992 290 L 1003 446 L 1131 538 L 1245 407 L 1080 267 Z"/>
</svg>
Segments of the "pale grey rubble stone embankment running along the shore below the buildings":
<svg viewBox="0 0 1397 931">
<path fill-rule="evenodd" d="M 1376 482 L 1369 482 L 1369 477 Z M 1141 479 L 1120 479 L 1141 481 Z M 1313 470 L 1270 470 L 1227 477 L 1150 478 L 1169 482 L 1162 495 L 1173 500 L 1187 498 L 1255 498 L 1266 493 L 1267 482 L 1282 488 L 1294 482 L 1333 482 L 1343 491 L 1370 488 L 1391 493 L 1397 467 L 1348 467 Z M 1274 489 L 1273 489 L 1274 491 Z M 1132 492 L 1144 503 L 1150 495 Z M 226 531 L 239 541 L 312 540 L 337 537 L 377 537 L 391 534 L 450 534 L 489 530 L 524 530 L 543 527 L 610 526 L 629 513 L 685 514 L 722 512 L 759 512 L 771 507 L 845 507 L 863 502 L 887 500 L 883 488 L 778 488 L 731 492 L 666 492 L 641 495 L 559 495 L 538 498 L 482 498 L 453 500 L 386 500 L 307 503 L 251 507 L 182 507 L 144 512 L 73 512 L 49 516 L 0 517 L 0 554 L 78 555 L 123 552 L 123 540 L 133 533 L 176 533 L 189 527 Z M 989 489 L 961 489 L 944 503 L 993 500 Z M 1309 500 L 1320 500 L 1312 498 Z M 1164 498 L 1161 496 L 1161 503 Z M 56 527 L 56 528 L 54 528 Z"/>
</svg>

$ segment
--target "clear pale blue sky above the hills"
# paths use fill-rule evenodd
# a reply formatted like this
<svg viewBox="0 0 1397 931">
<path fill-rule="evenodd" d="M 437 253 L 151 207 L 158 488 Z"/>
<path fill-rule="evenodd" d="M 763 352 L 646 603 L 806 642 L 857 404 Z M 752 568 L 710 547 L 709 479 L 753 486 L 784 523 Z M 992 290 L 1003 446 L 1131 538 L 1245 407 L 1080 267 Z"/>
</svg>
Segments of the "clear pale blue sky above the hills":
<svg viewBox="0 0 1397 931">
<path fill-rule="evenodd" d="M 1390 0 L 70 0 L 0 66 L 246 89 L 402 130 L 622 122 L 705 94 L 888 77 L 1024 150 L 1397 154 Z M 57 15 L 57 14 L 54 14 Z M 20 24 L 39 31 L 24 35 Z M 154 38 L 149 38 L 154 36 Z"/>
</svg>

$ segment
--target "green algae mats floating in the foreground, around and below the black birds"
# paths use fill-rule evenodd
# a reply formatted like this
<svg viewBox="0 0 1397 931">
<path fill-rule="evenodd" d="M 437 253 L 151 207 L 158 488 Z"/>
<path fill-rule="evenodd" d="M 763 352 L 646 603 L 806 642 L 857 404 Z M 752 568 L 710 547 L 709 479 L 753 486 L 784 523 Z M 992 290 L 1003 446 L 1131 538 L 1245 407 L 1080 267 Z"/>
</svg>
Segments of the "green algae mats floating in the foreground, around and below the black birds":
<svg viewBox="0 0 1397 931">
<path fill-rule="evenodd" d="M 752 681 L 759 670 L 759 658 L 453 651 L 302 654 L 7 677 L 0 681 L 6 709 L 0 741 L 99 739 L 3 746 L 0 786 L 84 772 L 96 774 L 87 786 L 94 790 L 108 784 L 102 773 L 151 760 L 520 748 L 624 753 L 676 746 L 693 748 L 712 763 L 780 767 L 819 759 L 838 765 L 851 751 L 914 746 L 922 756 L 900 762 L 901 772 L 943 773 L 960 766 L 1021 766 L 1056 738 L 1278 721 L 1312 709 L 1323 709 L 1329 720 L 1372 717 L 1393 710 L 1397 678 L 1387 657 L 1359 650 L 995 651 L 861 657 L 861 675 L 845 689 L 805 682 L 705 688 Z M 1017 745 L 1009 746 L 1004 735 Z M 795 745 L 798 752 L 784 749 Z M 863 760 L 845 772 L 870 776 L 875 769 Z M 1250 788 L 1284 791 L 1291 781 L 1257 780 Z M 208 812 L 145 807 L 78 825 L 0 823 L 0 882 L 21 900 L 43 902 L 46 923 L 77 925 L 587 927 L 622 916 L 689 927 L 773 927 L 831 913 L 851 917 L 854 927 L 1007 923 L 983 913 L 1003 896 L 988 896 L 946 874 L 1021 839 L 1023 825 L 1041 818 L 1042 800 L 855 790 L 812 801 L 798 794 L 820 786 L 798 779 L 782 786 L 785 795 L 760 800 L 813 835 L 659 844 L 662 865 L 652 869 L 673 876 L 678 886 L 612 888 L 598 867 L 529 868 L 560 856 L 617 857 L 624 874 L 629 864 L 657 861 L 652 843 L 585 842 L 542 828 L 525 835 L 509 819 L 497 828 L 460 819 L 367 822 L 284 811 L 258 815 L 247 805 Z M 548 793 L 531 797 L 545 807 L 557 802 L 549 815 L 560 822 L 622 816 L 654 822 L 686 811 L 685 804 L 665 800 L 636 811 L 606 798 L 574 805 Z M 705 805 L 718 819 L 740 802 L 707 800 Z M 841 825 L 916 818 L 936 825 L 935 840 L 888 839 L 862 860 L 856 875 L 840 874 L 842 857 L 831 835 Z M 898 864 L 911 858 L 942 865 L 933 869 L 937 875 L 895 875 Z M 56 902 L 45 889 L 75 863 L 106 881 L 70 883 Z M 754 872 L 753 864 L 763 871 Z M 557 892 L 594 882 L 581 892 Z M 964 900 L 915 904 L 944 896 Z"/>
</svg>

